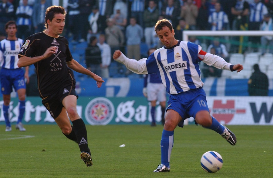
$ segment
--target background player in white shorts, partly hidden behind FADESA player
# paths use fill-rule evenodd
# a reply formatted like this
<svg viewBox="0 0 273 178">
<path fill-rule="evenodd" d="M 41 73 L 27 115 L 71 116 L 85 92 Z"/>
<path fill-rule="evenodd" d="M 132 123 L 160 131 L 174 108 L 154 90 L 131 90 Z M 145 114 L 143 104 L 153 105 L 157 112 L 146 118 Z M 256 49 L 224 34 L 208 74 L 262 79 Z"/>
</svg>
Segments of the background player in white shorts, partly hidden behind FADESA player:
<svg viewBox="0 0 273 178">
<path fill-rule="evenodd" d="M 150 48 L 148 50 L 148 56 L 150 56 L 155 50 L 155 48 Z M 159 101 L 161 106 L 161 123 L 164 125 L 166 109 L 166 87 L 162 84 L 161 79 L 157 76 L 156 73 L 151 73 L 144 76 L 143 95 L 147 97 L 149 102 L 151 102 L 151 126 L 156 126 L 155 107 L 157 106 L 157 101 Z"/>
</svg>

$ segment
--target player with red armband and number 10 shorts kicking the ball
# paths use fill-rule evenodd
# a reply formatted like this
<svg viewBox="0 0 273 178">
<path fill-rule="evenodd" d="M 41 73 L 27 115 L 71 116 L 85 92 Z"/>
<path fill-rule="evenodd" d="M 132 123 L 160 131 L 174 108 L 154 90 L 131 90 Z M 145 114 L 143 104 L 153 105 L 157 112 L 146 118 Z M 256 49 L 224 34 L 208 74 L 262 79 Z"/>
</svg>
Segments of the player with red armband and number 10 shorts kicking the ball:
<svg viewBox="0 0 273 178">
<path fill-rule="evenodd" d="M 229 144 L 236 144 L 235 135 L 210 115 L 198 63 L 203 61 L 219 69 L 237 72 L 243 70 L 243 66 L 231 65 L 217 55 L 206 53 L 197 44 L 176 40 L 172 24 L 167 19 L 157 21 L 155 32 L 164 46 L 148 59 L 129 59 L 119 50 L 115 51 L 113 58 L 134 73 L 157 73 L 170 93 L 160 144 L 161 164 L 153 171 L 166 172 L 170 171 L 174 129 L 177 125 L 183 127 L 186 118 L 193 117 L 196 124 L 216 131 Z"/>
</svg>

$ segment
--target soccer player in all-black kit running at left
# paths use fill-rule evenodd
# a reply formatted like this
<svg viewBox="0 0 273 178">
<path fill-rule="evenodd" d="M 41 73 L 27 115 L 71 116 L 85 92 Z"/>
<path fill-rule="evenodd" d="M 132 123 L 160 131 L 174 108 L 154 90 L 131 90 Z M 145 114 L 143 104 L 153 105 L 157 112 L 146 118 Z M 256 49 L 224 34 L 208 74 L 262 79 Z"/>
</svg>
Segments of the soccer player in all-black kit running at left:
<svg viewBox="0 0 273 178">
<path fill-rule="evenodd" d="M 25 40 L 18 54 L 18 66 L 34 64 L 43 105 L 62 133 L 78 143 L 80 157 L 89 167 L 93 162 L 87 143 L 86 127 L 76 110 L 78 96 L 72 70 L 91 76 L 97 81 L 97 87 L 101 87 L 104 81 L 72 58 L 67 39 L 59 36 L 64 29 L 65 16 L 66 11 L 62 6 L 50 6 L 46 9 L 46 29 Z"/>
</svg>

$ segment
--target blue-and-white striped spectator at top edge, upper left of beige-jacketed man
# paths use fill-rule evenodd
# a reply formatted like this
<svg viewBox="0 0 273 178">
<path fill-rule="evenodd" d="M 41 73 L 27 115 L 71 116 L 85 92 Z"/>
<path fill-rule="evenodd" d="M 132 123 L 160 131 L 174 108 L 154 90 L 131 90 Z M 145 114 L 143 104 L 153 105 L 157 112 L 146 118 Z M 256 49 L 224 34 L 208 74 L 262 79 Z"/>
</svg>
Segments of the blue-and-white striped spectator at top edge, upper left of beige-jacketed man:
<svg viewBox="0 0 273 178">
<path fill-rule="evenodd" d="M 106 19 L 110 18 L 110 15 L 113 14 L 113 0 L 96 0 L 96 5 L 99 7 L 99 30 L 103 32 L 106 25 Z"/>
</svg>

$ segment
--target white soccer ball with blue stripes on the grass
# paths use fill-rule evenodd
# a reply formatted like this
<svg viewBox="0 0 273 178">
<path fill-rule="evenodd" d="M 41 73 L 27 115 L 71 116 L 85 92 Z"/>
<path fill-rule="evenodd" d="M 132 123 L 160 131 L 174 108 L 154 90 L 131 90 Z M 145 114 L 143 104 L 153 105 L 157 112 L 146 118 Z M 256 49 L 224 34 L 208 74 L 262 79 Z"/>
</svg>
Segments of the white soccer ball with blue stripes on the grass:
<svg viewBox="0 0 273 178">
<path fill-rule="evenodd" d="M 208 173 L 216 173 L 223 165 L 222 156 L 216 151 L 207 151 L 201 157 L 201 167 Z"/>
</svg>

